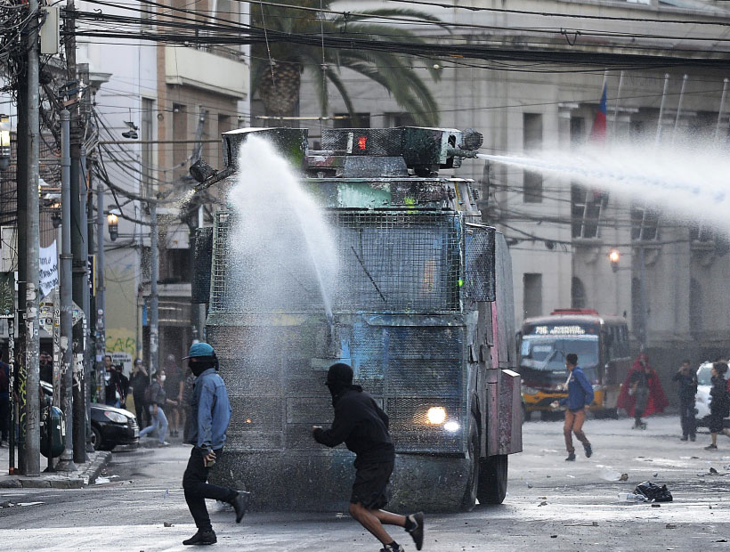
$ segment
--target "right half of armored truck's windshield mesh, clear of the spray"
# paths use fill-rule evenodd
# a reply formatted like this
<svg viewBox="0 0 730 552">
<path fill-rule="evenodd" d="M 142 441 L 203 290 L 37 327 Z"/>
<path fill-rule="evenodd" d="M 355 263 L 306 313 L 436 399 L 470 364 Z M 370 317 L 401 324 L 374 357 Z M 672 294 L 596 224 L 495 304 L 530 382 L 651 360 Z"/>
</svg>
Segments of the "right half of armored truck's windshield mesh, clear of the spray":
<svg viewBox="0 0 730 552">
<path fill-rule="evenodd" d="M 441 313 L 459 310 L 458 214 L 336 211 L 337 310 Z"/>
</svg>

